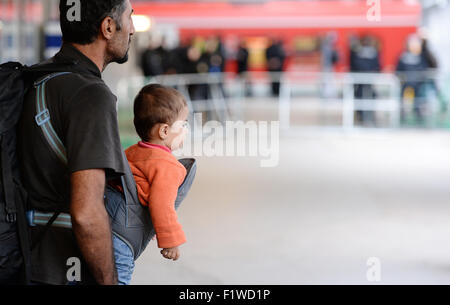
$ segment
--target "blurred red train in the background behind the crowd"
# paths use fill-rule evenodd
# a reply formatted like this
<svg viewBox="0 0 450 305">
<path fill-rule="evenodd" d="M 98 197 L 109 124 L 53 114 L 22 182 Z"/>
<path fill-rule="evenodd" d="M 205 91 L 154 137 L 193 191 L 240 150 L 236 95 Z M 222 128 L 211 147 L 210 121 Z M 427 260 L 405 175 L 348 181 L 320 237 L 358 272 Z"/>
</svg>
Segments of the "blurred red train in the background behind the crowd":
<svg viewBox="0 0 450 305">
<path fill-rule="evenodd" d="M 152 23 L 170 24 L 181 41 L 195 36 L 219 35 L 228 49 L 245 39 L 253 59 L 251 70 L 264 69 L 263 50 L 268 37 L 283 41 L 290 54 L 287 69 L 319 69 L 318 41 L 334 32 L 340 60 L 338 71 L 349 66 L 349 40 L 353 35 L 372 35 L 380 46 L 383 70 L 394 69 L 406 37 L 417 31 L 421 6 L 414 0 L 371 1 L 269 1 L 263 3 L 132 1 L 135 14 Z M 369 10 L 379 5 L 380 18 L 370 21 Z M 373 11 L 372 11 L 373 12 Z M 227 70 L 234 70 L 233 61 Z"/>
</svg>

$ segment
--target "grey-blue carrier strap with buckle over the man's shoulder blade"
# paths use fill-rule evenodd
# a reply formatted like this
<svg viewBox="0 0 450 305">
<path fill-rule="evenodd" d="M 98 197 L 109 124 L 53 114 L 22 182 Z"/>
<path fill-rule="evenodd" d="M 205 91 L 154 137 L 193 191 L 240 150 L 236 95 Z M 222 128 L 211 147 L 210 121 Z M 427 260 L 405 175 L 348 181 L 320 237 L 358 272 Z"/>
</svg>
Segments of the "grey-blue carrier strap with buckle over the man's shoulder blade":
<svg viewBox="0 0 450 305">
<path fill-rule="evenodd" d="M 58 137 L 58 134 L 56 133 L 50 121 L 50 112 L 45 101 L 45 85 L 49 80 L 55 77 L 70 73 L 71 72 L 52 73 L 34 83 L 34 86 L 36 87 L 36 124 L 41 128 L 42 133 L 52 151 L 65 165 L 67 165 L 68 163 L 67 152 L 63 142 Z"/>
</svg>

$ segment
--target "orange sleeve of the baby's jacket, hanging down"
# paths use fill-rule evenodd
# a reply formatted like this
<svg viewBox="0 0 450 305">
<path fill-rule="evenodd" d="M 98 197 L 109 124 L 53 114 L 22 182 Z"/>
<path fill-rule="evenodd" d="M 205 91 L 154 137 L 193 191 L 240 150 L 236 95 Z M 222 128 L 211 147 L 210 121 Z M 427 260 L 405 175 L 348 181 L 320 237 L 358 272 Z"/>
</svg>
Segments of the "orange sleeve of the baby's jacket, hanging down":
<svg viewBox="0 0 450 305">
<path fill-rule="evenodd" d="M 186 242 L 175 211 L 175 199 L 183 174 L 176 165 L 161 161 L 151 181 L 148 206 L 159 248 L 172 248 Z"/>
</svg>

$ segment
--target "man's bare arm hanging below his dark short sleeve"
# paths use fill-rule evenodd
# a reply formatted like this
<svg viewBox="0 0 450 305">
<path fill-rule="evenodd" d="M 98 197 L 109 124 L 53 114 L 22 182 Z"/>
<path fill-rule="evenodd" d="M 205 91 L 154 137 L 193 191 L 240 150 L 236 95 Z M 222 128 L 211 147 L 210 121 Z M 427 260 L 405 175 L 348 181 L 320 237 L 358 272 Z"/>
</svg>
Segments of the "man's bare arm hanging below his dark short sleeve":
<svg viewBox="0 0 450 305">
<path fill-rule="evenodd" d="M 92 169 L 71 175 L 70 214 L 84 260 L 98 284 L 117 284 L 111 228 L 104 204 L 105 171 Z"/>
</svg>

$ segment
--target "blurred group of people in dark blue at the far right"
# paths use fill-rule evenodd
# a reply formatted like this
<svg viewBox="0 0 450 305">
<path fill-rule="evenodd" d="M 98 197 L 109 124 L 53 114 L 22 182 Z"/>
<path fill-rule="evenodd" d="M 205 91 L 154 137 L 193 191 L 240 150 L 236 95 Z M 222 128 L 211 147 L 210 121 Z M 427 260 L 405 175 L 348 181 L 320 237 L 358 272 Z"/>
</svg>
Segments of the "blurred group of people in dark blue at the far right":
<svg viewBox="0 0 450 305">
<path fill-rule="evenodd" d="M 372 36 L 352 38 L 350 42 L 350 71 L 377 73 L 380 65 L 381 46 Z M 401 81 L 401 118 L 405 120 L 405 106 L 412 106 L 414 119 L 423 123 L 428 96 L 433 94 L 440 102 L 441 111 L 446 111 L 446 101 L 438 89 L 434 71 L 438 68 L 437 60 L 428 47 L 426 35 L 411 34 L 405 42 L 395 72 Z M 355 98 L 370 100 L 377 98 L 377 92 L 371 84 L 355 85 Z M 358 111 L 357 120 L 363 124 L 375 124 L 374 112 Z"/>
</svg>

